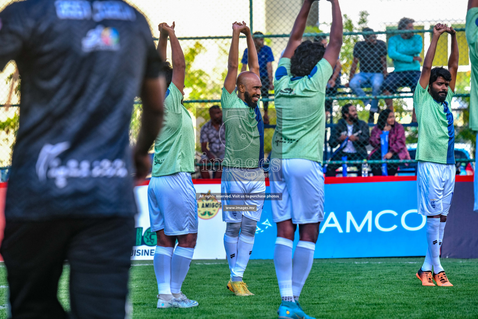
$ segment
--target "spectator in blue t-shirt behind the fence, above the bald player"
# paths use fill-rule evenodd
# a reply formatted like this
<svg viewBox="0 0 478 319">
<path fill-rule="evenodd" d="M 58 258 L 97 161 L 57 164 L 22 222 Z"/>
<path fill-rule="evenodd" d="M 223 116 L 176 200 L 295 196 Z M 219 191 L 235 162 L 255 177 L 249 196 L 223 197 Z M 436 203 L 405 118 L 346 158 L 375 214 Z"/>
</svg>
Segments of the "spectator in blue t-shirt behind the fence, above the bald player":
<svg viewBox="0 0 478 319">
<path fill-rule="evenodd" d="M 274 55 L 272 55 L 272 49 L 268 45 L 264 45 L 264 38 L 257 37 L 256 35 L 264 35 L 262 32 L 254 32 L 254 45 L 256 46 L 257 59 L 259 60 L 259 74 L 261 75 L 261 97 L 269 98 L 269 90 L 274 89 L 274 78 L 272 77 L 272 61 L 274 61 Z M 242 55 L 242 68 L 241 72 L 246 71 L 247 68 L 247 48 Z M 269 117 L 267 116 L 267 107 L 269 102 L 262 101 L 264 107 L 264 116 L 262 120 L 264 124 L 269 124 Z"/>
</svg>

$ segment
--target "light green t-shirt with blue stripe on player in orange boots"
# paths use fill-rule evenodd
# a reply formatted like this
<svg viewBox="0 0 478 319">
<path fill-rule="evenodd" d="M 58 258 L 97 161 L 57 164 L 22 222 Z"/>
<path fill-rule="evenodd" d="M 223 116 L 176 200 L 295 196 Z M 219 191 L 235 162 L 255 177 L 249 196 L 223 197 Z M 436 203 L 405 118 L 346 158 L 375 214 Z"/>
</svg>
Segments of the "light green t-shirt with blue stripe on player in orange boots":
<svg viewBox="0 0 478 319">
<path fill-rule="evenodd" d="M 413 94 L 413 108 L 418 122 L 416 160 L 455 164 L 455 127 L 451 113 L 451 88 L 444 103 L 438 103 L 418 82 Z"/>
</svg>

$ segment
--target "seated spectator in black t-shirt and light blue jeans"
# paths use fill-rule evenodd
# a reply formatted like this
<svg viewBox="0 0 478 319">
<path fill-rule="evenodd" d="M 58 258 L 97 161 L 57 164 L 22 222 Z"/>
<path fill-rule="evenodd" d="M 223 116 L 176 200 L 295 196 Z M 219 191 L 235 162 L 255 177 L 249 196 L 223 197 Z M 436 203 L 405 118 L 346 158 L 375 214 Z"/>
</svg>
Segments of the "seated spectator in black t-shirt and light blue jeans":
<svg viewBox="0 0 478 319">
<path fill-rule="evenodd" d="M 373 29 L 363 28 L 364 32 L 373 32 Z M 359 97 L 365 96 L 362 88 L 372 88 L 372 95 L 380 95 L 383 79 L 387 77 L 387 44 L 377 40 L 375 34 L 364 35 L 365 41 L 357 42 L 354 46 L 354 60 L 350 68 L 349 82 L 346 87 Z M 355 74 L 357 64 L 360 73 Z M 364 101 L 370 104 L 369 123 L 373 123 L 374 114 L 379 111 L 379 100 Z"/>
</svg>

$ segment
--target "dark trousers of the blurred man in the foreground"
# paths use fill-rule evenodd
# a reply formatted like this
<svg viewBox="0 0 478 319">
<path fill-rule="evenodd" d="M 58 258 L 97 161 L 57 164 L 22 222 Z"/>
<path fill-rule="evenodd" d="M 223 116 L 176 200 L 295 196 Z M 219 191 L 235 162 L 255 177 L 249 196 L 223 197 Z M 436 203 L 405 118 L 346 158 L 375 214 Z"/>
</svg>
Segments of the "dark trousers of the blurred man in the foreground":
<svg viewBox="0 0 478 319">
<path fill-rule="evenodd" d="M 8 221 L 1 254 L 12 319 L 124 319 L 134 218 Z M 70 264 L 70 317 L 57 299 Z"/>
</svg>

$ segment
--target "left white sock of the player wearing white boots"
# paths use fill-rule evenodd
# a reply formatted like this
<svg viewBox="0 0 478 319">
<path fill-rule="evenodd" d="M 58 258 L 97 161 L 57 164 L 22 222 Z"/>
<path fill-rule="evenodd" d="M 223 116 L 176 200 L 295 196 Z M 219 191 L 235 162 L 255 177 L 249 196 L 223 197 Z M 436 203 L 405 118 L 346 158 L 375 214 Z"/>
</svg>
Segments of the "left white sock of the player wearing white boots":
<svg viewBox="0 0 478 319">
<path fill-rule="evenodd" d="M 173 297 L 171 294 L 171 256 L 173 256 L 173 250 L 173 247 L 156 246 L 153 258 L 158 293 L 160 295 L 171 295 L 171 297 Z"/>
</svg>

